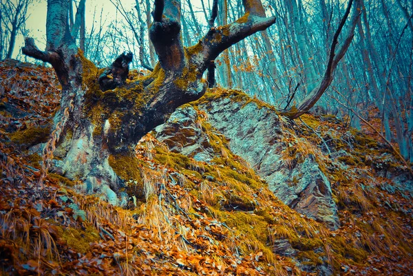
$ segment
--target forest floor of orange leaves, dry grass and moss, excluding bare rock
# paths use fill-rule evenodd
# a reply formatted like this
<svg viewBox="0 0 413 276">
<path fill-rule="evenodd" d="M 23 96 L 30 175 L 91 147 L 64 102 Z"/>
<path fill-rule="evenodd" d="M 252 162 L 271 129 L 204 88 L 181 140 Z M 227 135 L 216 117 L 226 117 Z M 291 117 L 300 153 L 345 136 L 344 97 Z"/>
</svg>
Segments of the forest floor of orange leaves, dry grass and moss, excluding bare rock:
<svg viewBox="0 0 413 276">
<path fill-rule="evenodd" d="M 377 137 L 335 117 L 306 114 L 297 124 L 309 128 L 295 136 L 317 152 L 328 136 L 329 150 L 348 152 L 321 158 L 339 209 L 335 231 L 282 204 L 229 148 L 213 165 L 151 134 L 136 147 L 145 200 L 132 196 L 123 209 L 79 193 L 78 180 L 41 180 L 35 149 L 59 108 L 52 69 L 3 61 L 0 80 L 0 275 L 413 274 L 412 191 L 381 173 L 408 171 Z"/>
</svg>

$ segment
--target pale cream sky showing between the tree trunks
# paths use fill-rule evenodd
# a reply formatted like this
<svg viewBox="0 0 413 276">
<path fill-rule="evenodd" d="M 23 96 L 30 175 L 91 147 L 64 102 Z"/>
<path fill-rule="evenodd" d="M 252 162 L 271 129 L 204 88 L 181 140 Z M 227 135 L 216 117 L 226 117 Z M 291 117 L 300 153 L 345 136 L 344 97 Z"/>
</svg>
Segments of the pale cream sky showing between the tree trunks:
<svg viewBox="0 0 413 276">
<path fill-rule="evenodd" d="M 3 0 L 1 0 L 3 1 Z M 16 1 L 16 0 L 6 0 Z M 76 0 L 78 2 L 78 0 Z M 153 2 L 153 0 L 151 0 Z M 135 6 L 135 0 L 122 0 L 125 8 L 132 8 Z M 191 0 L 193 6 L 200 6 L 200 0 Z M 89 30 L 92 27 L 93 14 L 96 9 L 96 17 L 99 16 L 100 10 L 103 8 L 103 15 L 107 19 L 107 23 L 112 21 L 116 17 L 116 8 L 109 0 L 86 0 L 86 28 Z M 76 8 L 74 8 L 76 12 Z M 47 14 L 47 0 L 34 0 L 34 3 L 30 5 L 28 9 L 30 14 L 26 21 L 26 28 L 29 30 L 29 36 L 36 41 L 36 45 L 39 49 L 44 50 L 46 45 L 46 14 Z M 105 18 L 102 21 L 105 21 Z M 99 18 L 96 19 L 96 23 L 99 22 Z M 21 47 L 24 45 L 24 37 L 19 33 L 14 46 L 14 52 L 12 58 L 16 59 L 17 55 L 21 55 Z M 20 59 L 24 59 L 23 56 L 19 56 Z M 28 59 L 28 61 L 33 61 Z"/>
</svg>

